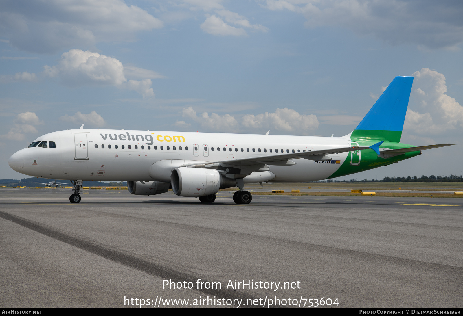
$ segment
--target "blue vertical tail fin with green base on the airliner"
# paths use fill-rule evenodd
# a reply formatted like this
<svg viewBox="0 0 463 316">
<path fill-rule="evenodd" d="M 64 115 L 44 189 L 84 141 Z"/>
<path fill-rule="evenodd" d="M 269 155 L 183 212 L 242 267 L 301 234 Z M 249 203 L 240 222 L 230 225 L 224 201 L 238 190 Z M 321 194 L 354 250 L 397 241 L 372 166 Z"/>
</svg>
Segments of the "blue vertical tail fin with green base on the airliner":
<svg viewBox="0 0 463 316">
<path fill-rule="evenodd" d="M 413 77 L 397 76 L 352 132 L 351 138 L 400 142 Z"/>
</svg>

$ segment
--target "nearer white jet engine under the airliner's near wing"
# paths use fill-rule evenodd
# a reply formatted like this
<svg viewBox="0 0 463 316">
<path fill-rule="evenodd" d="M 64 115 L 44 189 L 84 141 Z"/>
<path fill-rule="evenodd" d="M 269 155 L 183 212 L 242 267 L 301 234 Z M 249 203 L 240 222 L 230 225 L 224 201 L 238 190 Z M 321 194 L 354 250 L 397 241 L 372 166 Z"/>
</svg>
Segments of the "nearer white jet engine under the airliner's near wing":
<svg viewBox="0 0 463 316">
<path fill-rule="evenodd" d="M 236 186 L 236 180 L 221 176 L 215 169 L 181 167 L 172 170 L 171 184 L 177 195 L 205 196 Z"/>
</svg>

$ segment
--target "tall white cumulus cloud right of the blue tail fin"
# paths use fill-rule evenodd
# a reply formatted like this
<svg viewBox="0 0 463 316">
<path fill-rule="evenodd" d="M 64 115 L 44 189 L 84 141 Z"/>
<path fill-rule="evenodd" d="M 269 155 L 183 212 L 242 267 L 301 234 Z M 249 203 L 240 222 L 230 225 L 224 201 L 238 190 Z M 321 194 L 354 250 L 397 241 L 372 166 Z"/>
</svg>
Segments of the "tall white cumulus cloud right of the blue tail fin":
<svg viewBox="0 0 463 316">
<path fill-rule="evenodd" d="M 446 94 L 445 76 L 435 70 L 422 68 L 413 73 L 414 87 L 405 117 L 404 129 L 419 135 L 440 134 L 463 128 L 463 107 Z"/>
</svg>

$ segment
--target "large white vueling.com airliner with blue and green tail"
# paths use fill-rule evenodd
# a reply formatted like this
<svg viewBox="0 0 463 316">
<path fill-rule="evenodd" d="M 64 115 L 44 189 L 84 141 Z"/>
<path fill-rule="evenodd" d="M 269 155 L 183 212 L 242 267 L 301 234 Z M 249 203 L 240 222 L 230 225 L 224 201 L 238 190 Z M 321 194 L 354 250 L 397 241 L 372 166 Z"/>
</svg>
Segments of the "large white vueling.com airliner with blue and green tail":
<svg viewBox="0 0 463 316">
<path fill-rule="evenodd" d="M 248 183 L 310 182 L 398 163 L 422 150 L 450 146 L 400 143 L 413 77 L 397 76 L 357 128 L 342 137 L 69 129 L 45 134 L 8 160 L 13 170 L 73 183 L 127 181 L 136 195 L 166 193 L 212 203 L 238 187 L 236 204 L 249 204 Z"/>
</svg>

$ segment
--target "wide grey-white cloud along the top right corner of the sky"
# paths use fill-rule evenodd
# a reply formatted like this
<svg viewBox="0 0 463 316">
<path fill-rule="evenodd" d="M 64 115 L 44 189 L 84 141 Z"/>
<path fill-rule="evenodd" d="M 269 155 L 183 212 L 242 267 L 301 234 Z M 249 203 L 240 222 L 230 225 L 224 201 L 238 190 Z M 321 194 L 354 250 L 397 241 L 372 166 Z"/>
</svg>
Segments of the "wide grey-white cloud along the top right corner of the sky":
<svg viewBox="0 0 463 316">
<path fill-rule="evenodd" d="M 463 42 L 460 1 L 432 0 L 262 0 L 269 10 L 303 14 L 307 27 L 338 25 L 392 45 L 431 49 Z"/>
</svg>

